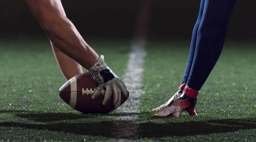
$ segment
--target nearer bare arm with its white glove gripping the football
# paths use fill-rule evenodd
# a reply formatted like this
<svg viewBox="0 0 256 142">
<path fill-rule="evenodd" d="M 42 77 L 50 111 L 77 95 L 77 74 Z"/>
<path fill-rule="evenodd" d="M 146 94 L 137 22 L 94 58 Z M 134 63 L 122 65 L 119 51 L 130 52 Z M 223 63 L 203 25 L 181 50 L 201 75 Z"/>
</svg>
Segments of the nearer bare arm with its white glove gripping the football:
<svg viewBox="0 0 256 142">
<path fill-rule="evenodd" d="M 102 105 L 107 105 L 113 95 L 113 105 L 120 105 L 119 90 L 125 98 L 129 97 L 129 91 L 125 84 L 107 66 L 104 56 L 98 54 L 84 41 L 73 23 L 62 12 L 63 7 L 59 0 L 26 0 L 32 13 L 40 22 L 50 41 L 62 53 L 73 58 L 81 66 L 90 70 L 93 79 L 99 83 L 93 92 L 92 100 L 96 99 L 104 88 L 104 100 Z"/>
</svg>

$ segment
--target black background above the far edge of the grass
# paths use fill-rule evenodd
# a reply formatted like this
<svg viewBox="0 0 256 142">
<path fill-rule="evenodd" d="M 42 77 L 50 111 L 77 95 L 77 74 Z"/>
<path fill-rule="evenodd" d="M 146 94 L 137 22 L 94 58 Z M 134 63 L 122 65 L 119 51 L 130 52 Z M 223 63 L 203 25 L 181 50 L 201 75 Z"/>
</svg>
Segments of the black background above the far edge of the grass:
<svg viewBox="0 0 256 142">
<path fill-rule="evenodd" d="M 140 0 L 62 0 L 69 17 L 83 36 L 131 38 Z M 256 1 L 238 0 L 230 18 L 227 39 L 256 38 Z M 190 39 L 198 17 L 200 0 L 155 0 L 149 37 Z M 25 0 L 0 1 L 0 36 L 43 36 Z"/>
</svg>

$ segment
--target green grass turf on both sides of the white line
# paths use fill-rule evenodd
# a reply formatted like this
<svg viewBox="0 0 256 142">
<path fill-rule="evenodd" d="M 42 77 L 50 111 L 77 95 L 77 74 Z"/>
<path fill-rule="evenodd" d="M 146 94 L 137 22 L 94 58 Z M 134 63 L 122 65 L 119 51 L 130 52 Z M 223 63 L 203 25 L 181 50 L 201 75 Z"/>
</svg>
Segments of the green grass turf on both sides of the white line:
<svg viewBox="0 0 256 142">
<path fill-rule="evenodd" d="M 123 79 L 130 43 L 89 42 Z M 190 117 L 156 118 L 155 107 L 176 91 L 183 77 L 189 42 L 148 43 L 140 112 L 81 114 L 64 103 L 66 82 L 49 42 L 0 40 L 0 141 L 256 141 L 256 44 L 230 43 L 209 76 Z M 166 66 L 166 64 L 168 66 Z M 122 119 L 137 115 L 136 124 Z M 134 136 L 131 127 L 137 127 Z M 127 127 L 127 128 L 126 128 Z"/>
</svg>

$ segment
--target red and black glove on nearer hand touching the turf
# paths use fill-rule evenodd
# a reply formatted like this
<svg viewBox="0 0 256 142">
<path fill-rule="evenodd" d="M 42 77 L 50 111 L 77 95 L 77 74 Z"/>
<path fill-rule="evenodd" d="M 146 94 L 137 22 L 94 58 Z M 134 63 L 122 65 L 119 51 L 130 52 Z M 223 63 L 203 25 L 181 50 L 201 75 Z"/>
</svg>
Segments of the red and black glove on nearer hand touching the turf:
<svg viewBox="0 0 256 142">
<path fill-rule="evenodd" d="M 195 112 L 195 105 L 199 93 L 200 91 L 190 89 L 188 86 L 186 86 L 183 90 L 183 93 L 177 97 L 177 100 L 175 100 L 174 103 L 170 104 L 170 106 L 166 109 L 163 109 L 163 111 L 154 114 L 154 116 L 167 117 L 172 116 L 174 114 L 175 117 L 180 117 L 180 114 L 183 111 L 189 109 L 189 107 L 191 109 L 194 108 Z M 195 115 L 197 114 L 195 113 Z"/>
</svg>

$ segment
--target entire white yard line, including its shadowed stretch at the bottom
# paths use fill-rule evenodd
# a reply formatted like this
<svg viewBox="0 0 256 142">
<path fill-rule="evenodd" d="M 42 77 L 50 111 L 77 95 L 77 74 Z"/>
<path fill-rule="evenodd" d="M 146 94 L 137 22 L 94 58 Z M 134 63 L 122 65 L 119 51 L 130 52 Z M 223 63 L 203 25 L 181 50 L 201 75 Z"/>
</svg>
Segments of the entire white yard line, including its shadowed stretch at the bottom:
<svg viewBox="0 0 256 142">
<path fill-rule="evenodd" d="M 143 84 L 145 56 L 145 40 L 142 39 L 132 42 L 131 53 L 124 78 L 125 85 L 130 92 L 130 97 L 117 109 L 119 114 L 124 115 L 117 117 L 117 121 L 113 124 L 112 136 L 117 138 L 113 140 L 114 142 L 131 142 L 131 139 L 137 138 L 139 134 L 140 123 L 138 123 L 139 114 L 137 113 L 140 112 L 140 97 L 142 92 L 140 87 Z"/>
</svg>

